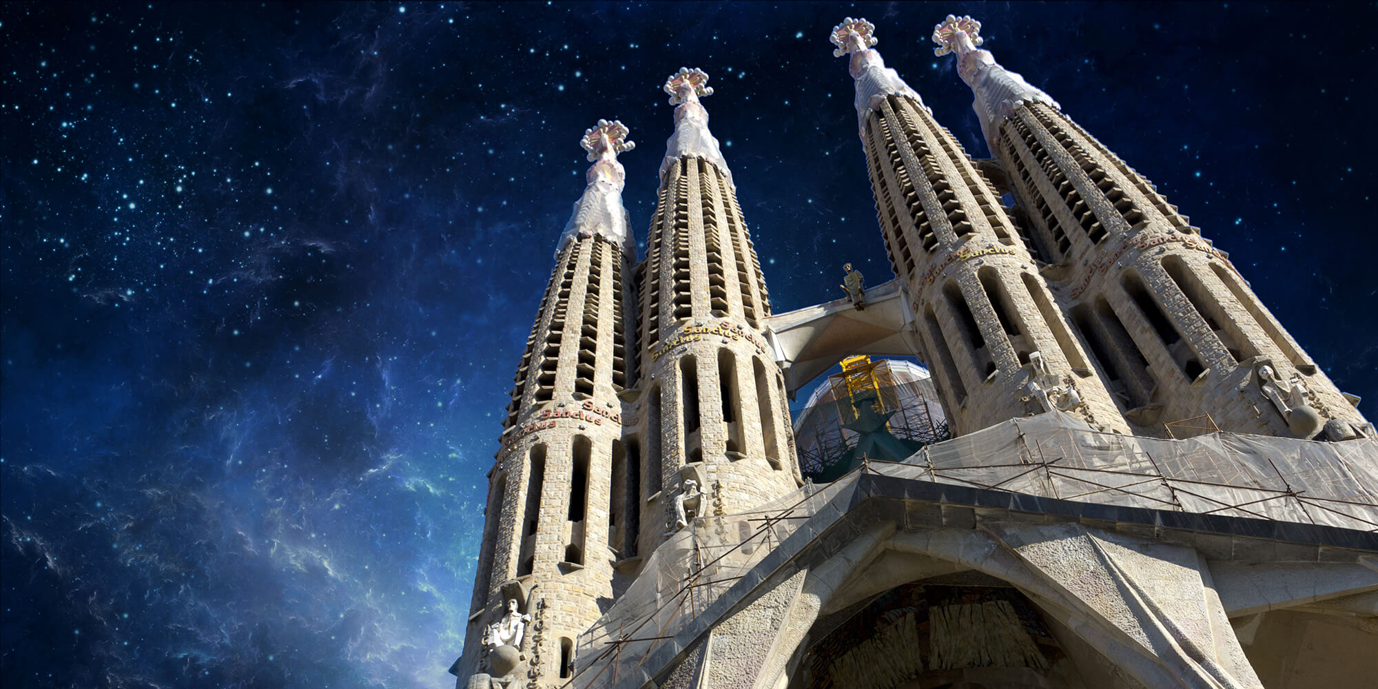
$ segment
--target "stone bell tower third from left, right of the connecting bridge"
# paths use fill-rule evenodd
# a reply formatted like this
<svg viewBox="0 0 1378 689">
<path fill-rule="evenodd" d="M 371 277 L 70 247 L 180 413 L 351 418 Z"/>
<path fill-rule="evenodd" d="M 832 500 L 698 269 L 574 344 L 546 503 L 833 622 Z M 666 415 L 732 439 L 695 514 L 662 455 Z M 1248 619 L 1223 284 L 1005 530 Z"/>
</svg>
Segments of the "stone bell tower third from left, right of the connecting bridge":
<svg viewBox="0 0 1378 689">
<path fill-rule="evenodd" d="M 989 179 L 898 73 L 875 26 L 832 29 L 850 55 L 857 127 L 886 252 L 956 434 L 1053 409 L 1129 433 Z"/>
</svg>

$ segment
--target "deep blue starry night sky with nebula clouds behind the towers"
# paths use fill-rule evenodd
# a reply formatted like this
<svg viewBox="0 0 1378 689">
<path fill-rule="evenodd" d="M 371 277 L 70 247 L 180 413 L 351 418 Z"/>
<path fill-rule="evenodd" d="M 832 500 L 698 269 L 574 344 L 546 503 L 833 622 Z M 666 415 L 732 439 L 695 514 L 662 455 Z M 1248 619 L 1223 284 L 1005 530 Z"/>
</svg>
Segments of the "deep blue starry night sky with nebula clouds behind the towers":
<svg viewBox="0 0 1378 689">
<path fill-rule="evenodd" d="M 707 70 L 774 310 L 835 299 L 889 265 L 828 30 L 987 157 L 948 12 L 1378 402 L 1372 3 L 6 3 L 0 683 L 452 686 L 584 128 L 644 251 Z"/>
</svg>

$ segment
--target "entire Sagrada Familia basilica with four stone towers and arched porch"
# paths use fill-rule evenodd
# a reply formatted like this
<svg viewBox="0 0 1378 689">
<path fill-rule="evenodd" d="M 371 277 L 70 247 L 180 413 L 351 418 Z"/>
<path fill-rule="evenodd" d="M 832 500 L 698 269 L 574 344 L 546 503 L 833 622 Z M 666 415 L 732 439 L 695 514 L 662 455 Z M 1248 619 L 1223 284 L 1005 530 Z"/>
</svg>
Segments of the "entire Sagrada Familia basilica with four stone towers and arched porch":
<svg viewBox="0 0 1378 689">
<path fill-rule="evenodd" d="M 488 474 L 460 689 L 1372 686 L 1359 400 L 978 30 L 947 17 L 933 40 L 992 160 L 870 22 L 832 29 L 894 271 L 835 302 L 772 311 L 706 73 L 664 84 L 641 260 L 628 131 L 584 134 Z M 853 397 L 861 449 L 816 482 L 788 400 L 863 354 L 921 360 L 949 440 L 893 442 L 893 409 Z"/>
</svg>

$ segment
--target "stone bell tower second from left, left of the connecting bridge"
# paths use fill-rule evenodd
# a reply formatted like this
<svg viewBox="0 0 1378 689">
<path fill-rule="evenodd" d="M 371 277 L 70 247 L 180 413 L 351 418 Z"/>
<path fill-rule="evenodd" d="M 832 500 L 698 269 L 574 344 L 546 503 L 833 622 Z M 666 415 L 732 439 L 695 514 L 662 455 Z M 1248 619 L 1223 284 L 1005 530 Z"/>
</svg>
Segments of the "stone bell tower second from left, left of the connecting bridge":
<svg viewBox="0 0 1378 689">
<path fill-rule="evenodd" d="M 638 270 L 644 553 L 675 528 L 679 495 L 701 493 L 700 514 L 732 514 L 799 485 L 784 379 L 762 336 L 770 294 L 699 101 L 707 81 L 685 68 L 666 80 L 675 132 Z"/>
</svg>

